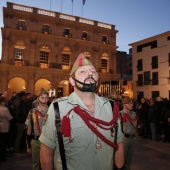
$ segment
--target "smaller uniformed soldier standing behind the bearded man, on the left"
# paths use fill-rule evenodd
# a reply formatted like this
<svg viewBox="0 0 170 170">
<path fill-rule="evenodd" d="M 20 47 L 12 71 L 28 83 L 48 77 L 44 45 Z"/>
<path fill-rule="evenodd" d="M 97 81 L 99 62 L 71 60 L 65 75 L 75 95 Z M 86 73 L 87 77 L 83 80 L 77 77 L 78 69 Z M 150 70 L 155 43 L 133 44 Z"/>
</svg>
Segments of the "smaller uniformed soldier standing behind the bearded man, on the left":
<svg viewBox="0 0 170 170">
<path fill-rule="evenodd" d="M 40 141 L 38 140 L 48 110 L 48 93 L 41 88 L 37 95 L 38 106 L 28 113 L 25 124 L 27 125 L 27 152 L 32 153 L 32 169 L 40 169 Z"/>
</svg>

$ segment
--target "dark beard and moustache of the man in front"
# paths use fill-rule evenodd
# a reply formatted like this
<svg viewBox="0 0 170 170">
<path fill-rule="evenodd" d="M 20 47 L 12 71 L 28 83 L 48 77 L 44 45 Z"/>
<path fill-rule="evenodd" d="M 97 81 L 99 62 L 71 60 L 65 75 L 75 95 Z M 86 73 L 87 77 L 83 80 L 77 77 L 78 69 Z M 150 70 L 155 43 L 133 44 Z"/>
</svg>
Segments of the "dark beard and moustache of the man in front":
<svg viewBox="0 0 170 170">
<path fill-rule="evenodd" d="M 84 83 L 78 81 L 77 79 L 75 79 L 75 77 L 72 77 L 72 78 L 73 78 L 73 80 L 75 80 L 75 86 L 76 86 L 76 88 L 77 88 L 78 90 L 82 91 L 82 92 L 95 92 L 95 91 L 97 90 L 97 82 L 95 81 L 95 79 L 94 79 L 93 77 L 88 77 L 88 78 L 86 78 L 86 79 L 84 80 Z M 95 83 L 89 83 L 89 84 L 85 83 L 85 81 L 88 80 L 89 78 L 90 78 L 90 79 L 93 79 Z M 77 82 L 78 82 L 79 84 L 82 84 L 83 86 L 80 87 L 80 86 L 77 84 Z"/>
</svg>

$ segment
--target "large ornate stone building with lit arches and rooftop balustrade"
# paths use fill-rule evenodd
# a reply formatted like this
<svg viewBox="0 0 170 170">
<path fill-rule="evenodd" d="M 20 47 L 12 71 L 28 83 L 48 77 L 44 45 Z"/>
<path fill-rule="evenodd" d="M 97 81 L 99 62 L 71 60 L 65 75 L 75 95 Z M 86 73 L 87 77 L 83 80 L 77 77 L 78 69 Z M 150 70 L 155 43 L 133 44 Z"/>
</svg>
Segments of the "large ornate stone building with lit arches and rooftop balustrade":
<svg viewBox="0 0 170 170">
<path fill-rule="evenodd" d="M 72 90 L 71 67 L 81 52 L 94 63 L 103 95 L 120 89 L 120 83 L 110 83 L 119 79 L 114 25 L 9 2 L 3 20 L 1 91 L 37 94 L 43 87 L 66 96 Z"/>
</svg>

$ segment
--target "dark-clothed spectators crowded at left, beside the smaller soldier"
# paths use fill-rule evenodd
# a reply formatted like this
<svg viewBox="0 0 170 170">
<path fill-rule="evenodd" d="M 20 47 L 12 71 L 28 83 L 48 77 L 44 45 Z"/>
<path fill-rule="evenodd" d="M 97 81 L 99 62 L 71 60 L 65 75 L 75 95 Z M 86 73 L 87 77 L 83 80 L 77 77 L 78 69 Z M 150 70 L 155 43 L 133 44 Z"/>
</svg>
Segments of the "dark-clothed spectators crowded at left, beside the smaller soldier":
<svg viewBox="0 0 170 170">
<path fill-rule="evenodd" d="M 10 97 L 7 91 L 0 95 L 0 153 L 3 153 L 0 162 L 6 161 L 6 153 L 20 153 L 27 150 L 26 122 L 30 111 L 39 105 L 38 97 L 39 94 L 31 95 L 24 91 L 13 92 Z M 48 99 L 48 106 L 52 100 Z"/>
</svg>

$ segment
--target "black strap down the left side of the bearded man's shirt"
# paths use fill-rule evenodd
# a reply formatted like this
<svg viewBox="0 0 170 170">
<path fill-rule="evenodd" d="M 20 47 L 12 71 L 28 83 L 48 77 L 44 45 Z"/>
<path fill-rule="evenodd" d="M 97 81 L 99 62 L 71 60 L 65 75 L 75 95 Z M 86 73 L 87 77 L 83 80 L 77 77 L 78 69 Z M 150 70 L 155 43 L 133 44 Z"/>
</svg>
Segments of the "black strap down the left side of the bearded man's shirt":
<svg viewBox="0 0 170 170">
<path fill-rule="evenodd" d="M 54 105 L 54 112 L 55 112 L 55 126 L 57 129 L 57 136 L 58 136 L 58 143 L 59 143 L 59 150 L 60 150 L 62 166 L 63 166 L 63 170 L 67 170 L 63 136 L 61 133 L 61 118 L 60 118 L 58 102 L 53 103 L 53 105 Z"/>
</svg>

